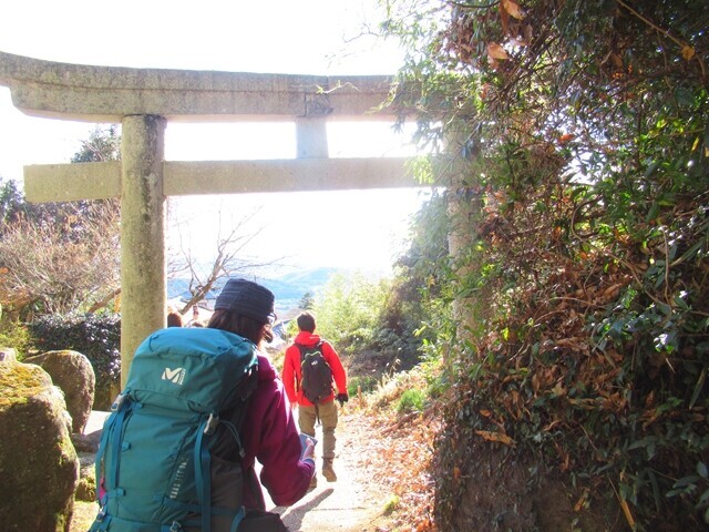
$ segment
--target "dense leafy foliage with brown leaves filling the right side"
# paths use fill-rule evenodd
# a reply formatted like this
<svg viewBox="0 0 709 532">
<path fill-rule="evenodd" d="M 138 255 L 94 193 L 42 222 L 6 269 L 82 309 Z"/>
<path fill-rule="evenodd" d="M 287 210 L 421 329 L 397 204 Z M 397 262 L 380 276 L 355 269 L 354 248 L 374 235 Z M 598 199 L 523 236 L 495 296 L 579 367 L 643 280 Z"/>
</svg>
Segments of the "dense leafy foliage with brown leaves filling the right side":
<svg viewBox="0 0 709 532">
<path fill-rule="evenodd" d="M 391 103 L 448 146 L 439 525 L 460 530 L 474 442 L 633 530 L 708 524 L 706 7 L 389 3 L 410 50 Z"/>
</svg>

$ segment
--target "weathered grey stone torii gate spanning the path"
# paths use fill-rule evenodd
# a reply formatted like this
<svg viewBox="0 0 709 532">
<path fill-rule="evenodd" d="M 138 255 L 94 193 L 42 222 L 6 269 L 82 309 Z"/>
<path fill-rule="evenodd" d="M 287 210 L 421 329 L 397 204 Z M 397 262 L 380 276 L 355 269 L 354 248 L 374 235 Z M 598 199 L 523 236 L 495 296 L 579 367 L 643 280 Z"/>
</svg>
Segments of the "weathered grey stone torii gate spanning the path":
<svg viewBox="0 0 709 532">
<path fill-rule="evenodd" d="M 405 158 L 329 158 L 328 120 L 391 120 L 386 76 L 129 69 L 0 52 L 0 85 L 41 117 L 121 123 L 121 161 L 24 167 L 30 202 L 121 197 L 121 385 L 138 344 L 165 326 L 165 197 L 417 186 Z M 164 161 L 167 121 L 292 121 L 297 158 Z"/>
</svg>

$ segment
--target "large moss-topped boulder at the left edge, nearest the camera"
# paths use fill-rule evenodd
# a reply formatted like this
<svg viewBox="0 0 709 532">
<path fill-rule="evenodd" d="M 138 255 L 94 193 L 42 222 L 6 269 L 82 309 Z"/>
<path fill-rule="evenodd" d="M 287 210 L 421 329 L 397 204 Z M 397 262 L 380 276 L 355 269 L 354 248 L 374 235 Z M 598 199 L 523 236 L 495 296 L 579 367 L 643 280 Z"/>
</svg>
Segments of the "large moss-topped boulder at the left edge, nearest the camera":
<svg viewBox="0 0 709 532">
<path fill-rule="evenodd" d="M 69 532 L 79 479 L 70 427 L 47 371 L 0 364 L 0 532 Z"/>
</svg>

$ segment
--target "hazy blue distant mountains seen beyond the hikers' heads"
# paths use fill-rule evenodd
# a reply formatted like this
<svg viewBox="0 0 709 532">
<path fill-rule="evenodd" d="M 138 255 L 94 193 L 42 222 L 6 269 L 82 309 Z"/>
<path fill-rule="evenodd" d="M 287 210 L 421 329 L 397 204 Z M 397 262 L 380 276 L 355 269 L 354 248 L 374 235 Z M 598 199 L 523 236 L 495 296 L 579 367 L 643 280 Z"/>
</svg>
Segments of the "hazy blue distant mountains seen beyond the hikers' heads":
<svg viewBox="0 0 709 532">
<path fill-rule="evenodd" d="M 284 274 L 267 274 L 261 276 L 244 275 L 245 278 L 255 280 L 271 290 L 276 296 L 276 311 L 286 313 L 297 308 L 298 303 L 307 293 L 317 294 L 332 278 L 333 275 L 345 272 L 341 268 L 323 267 L 323 268 L 304 268 Z M 217 286 L 209 293 L 207 300 L 204 301 L 207 307 L 214 305 L 214 299 L 222 289 L 226 279 L 220 280 Z M 174 299 L 189 297 L 189 279 L 168 279 L 167 280 L 167 298 Z"/>
</svg>

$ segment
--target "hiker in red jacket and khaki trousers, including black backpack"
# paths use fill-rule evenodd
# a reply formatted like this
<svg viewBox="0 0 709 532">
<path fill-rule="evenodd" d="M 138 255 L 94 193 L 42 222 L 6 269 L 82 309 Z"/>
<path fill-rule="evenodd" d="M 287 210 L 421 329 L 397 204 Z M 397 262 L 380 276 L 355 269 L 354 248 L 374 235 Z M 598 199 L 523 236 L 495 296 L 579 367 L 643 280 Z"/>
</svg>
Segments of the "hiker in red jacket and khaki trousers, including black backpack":
<svg viewBox="0 0 709 532">
<path fill-rule="evenodd" d="M 337 481 L 335 472 L 335 429 L 338 423 L 336 400 L 340 407 L 348 401 L 347 372 L 335 347 L 315 334 L 315 316 L 309 311 L 298 318 L 299 332 L 286 349 L 282 381 L 288 399 L 298 406 L 300 432 L 315 437 L 316 424 L 322 426 L 322 475 Z M 317 485 L 312 477 L 311 487 Z"/>
</svg>

